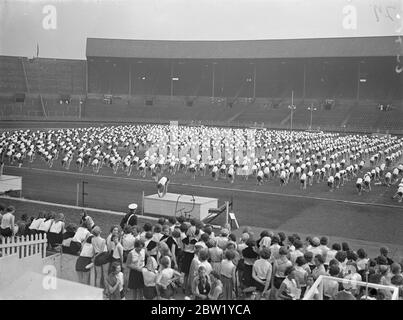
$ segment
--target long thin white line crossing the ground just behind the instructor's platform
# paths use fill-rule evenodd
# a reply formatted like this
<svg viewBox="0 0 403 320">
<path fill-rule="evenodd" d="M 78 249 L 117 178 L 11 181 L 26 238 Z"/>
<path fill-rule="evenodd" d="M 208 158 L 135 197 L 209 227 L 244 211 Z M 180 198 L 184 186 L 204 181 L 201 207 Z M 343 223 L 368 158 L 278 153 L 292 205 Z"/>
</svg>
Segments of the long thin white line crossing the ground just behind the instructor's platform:
<svg viewBox="0 0 403 320">
<path fill-rule="evenodd" d="M 128 178 L 128 177 L 121 177 L 121 176 L 105 176 L 105 175 L 95 175 L 91 173 L 79 173 L 79 172 L 71 172 L 71 171 L 60 171 L 60 170 L 49 170 L 49 169 L 41 169 L 41 168 L 27 168 L 27 167 L 14 167 L 14 166 L 5 166 L 7 168 L 14 168 L 14 169 L 27 169 L 30 171 L 42 171 L 48 173 L 61 173 L 61 174 L 70 174 L 75 176 L 87 176 L 87 177 L 94 177 L 94 178 L 106 178 L 106 179 L 119 179 L 119 180 L 127 180 L 127 181 L 138 181 L 138 182 L 148 182 L 155 184 L 153 180 L 146 180 L 146 179 L 137 179 L 137 178 Z M 300 199 L 312 199 L 312 200 L 319 200 L 319 201 L 329 201 L 329 202 L 341 202 L 347 204 L 354 204 L 360 206 L 378 206 L 378 207 L 386 207 L 386 208 L 395 208 L 395 209 L 403 209 L 403 206 L 397 206 L 393 204 L 383 204 L 383 203 L 371 203 L 371 202 L 359 202 L 359 201 L 351 201 L 351 200 L 341 200 L 341 199 L 329 199 L 329 198 L 321 198 L 321 197 L 311 197 L 311 196 L 304 196 L 298 194 L 284 194 L 284 193 L 276 193 L 276 192 L 268 192 L 268 191 L 259 191 L 259 190 L 243 190 L 243 189 L 236 189 L 236 188 L 225 188 L 225 187 L 217 187 L 217 186 L 205 186 L 205 185 L 195 185 L 189 183 L 175 183 L 170 182 L 170 185 L 177 185 L 177 186 L 184 186 L 184 187 L 192 187 L 192 188 L 200 188 L 200 189 L 215 189 L 215 190 L 223 190 L 223 191 L 234 191 L 234 192 L 246 192 L 246 193 L 257 193 L 257 194 L 265 194 L 270 196 L 279 196 L 279 197 L 288 197 L 288 198 L 300 198 Z"/>
</svg>

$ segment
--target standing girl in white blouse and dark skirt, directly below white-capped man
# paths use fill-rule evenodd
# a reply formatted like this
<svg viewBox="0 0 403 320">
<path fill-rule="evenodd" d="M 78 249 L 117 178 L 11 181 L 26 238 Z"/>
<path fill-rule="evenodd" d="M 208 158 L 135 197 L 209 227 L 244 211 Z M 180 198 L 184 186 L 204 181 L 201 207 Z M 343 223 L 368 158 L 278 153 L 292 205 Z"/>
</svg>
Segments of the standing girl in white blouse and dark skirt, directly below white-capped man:
<svg viewBox="0 0 403 320">
<path fill-rule="evenodd" d="M 143 297 L 144 279 L 142 270 L 145 266 L 144 242 L 136 240 L 134 249 L 127 256 L 126 267 L 130 269 L 128 288 L 133 290 L 134 300 Z"/>
</svg>

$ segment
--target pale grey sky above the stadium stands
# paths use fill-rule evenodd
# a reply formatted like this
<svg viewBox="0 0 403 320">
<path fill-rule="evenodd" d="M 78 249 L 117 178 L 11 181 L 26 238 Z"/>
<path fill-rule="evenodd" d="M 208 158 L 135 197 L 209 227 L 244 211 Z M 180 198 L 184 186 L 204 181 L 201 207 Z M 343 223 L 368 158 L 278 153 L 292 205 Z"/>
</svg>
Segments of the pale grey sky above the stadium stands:
<svg viewBox="0 0 403 320">
<path fill-rule="evenodd" d="M 86 39 L 255 40 L 402 33 L 403 0 L 0 0 L 0 55 L 85 59 Z"/>
</svg>

